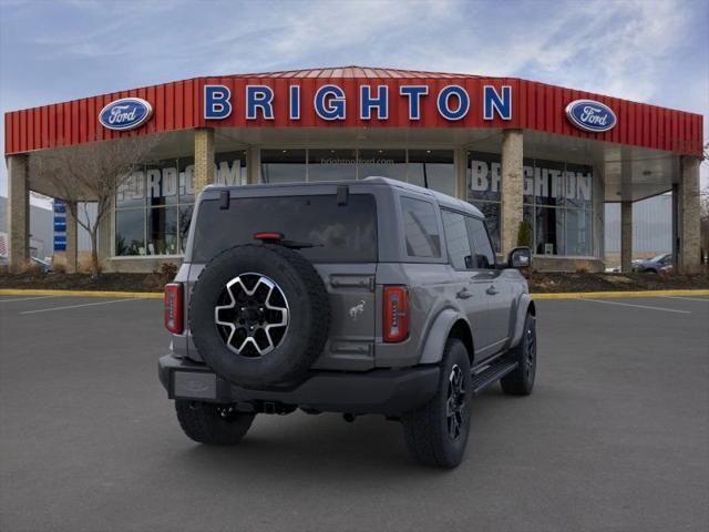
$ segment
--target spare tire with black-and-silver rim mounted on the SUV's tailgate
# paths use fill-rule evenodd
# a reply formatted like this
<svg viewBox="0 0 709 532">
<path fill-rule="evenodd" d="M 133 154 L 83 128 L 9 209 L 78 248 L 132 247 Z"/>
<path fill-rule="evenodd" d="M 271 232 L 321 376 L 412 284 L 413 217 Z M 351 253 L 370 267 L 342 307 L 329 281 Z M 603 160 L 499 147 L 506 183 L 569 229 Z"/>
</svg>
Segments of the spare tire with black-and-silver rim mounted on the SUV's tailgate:
<svg viewBox="0 0 709 532">
<path fill-rule="evenodd" d="M 199 275 L 189 299 L 189 329 L 207 365 L 235 385 L 297 385 L 328 338 L 328 294 L 299 253 L 278 245 L 236 246 Z"/>
</svg>

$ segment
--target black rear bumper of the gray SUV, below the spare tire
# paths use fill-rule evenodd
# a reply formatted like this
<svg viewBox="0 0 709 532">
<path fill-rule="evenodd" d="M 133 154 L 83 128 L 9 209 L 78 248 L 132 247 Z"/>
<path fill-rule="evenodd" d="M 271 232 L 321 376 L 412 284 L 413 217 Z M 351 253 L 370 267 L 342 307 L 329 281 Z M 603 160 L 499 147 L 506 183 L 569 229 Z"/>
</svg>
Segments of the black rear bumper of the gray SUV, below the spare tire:
<svg viewBox="0 0 709 532">
<path fill-rule="evenodd" d="M 423 406 L 438 388 L 438 366 L 367 372 L 314 371 L 289 390 L 250 390 L 215 375 L 204 364 L 161 357 L 160 380 L 171 399 L 222 403 L 278 403 L 348 413 L 401 415 Z"/>
</svg>

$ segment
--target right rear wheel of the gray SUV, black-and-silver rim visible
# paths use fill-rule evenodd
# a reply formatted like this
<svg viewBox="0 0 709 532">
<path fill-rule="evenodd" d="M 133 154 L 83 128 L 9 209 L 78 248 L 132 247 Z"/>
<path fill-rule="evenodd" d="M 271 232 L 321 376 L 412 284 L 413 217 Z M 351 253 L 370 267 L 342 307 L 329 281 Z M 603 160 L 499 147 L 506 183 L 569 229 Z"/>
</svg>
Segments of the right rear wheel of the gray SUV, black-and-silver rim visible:
<svg viewBox="0 0 709 532">
<path fill-rule="evenodd" d="M 454 468 L 463 459 L 471 424 L 470 358 L 458 338 L 445 344 L 439 390 L 423 408 L 404 415 L 407 447 L 421 463 Z"/>
</svg>

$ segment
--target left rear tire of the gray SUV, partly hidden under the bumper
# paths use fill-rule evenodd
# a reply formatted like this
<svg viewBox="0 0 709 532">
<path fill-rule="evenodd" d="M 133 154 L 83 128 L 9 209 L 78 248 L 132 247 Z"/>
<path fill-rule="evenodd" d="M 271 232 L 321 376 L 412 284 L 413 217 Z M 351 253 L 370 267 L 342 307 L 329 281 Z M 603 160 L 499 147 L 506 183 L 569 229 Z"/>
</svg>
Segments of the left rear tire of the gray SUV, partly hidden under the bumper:
<svg viewBox="0 0 709 532">
<path fill-rule="evenodd" d="M 254 413 L 239 412 L 230 405 L 176 400 L 177 420 L 191 439 L 213 446 L 233 446 L 246 434 Z"/>
</svg>

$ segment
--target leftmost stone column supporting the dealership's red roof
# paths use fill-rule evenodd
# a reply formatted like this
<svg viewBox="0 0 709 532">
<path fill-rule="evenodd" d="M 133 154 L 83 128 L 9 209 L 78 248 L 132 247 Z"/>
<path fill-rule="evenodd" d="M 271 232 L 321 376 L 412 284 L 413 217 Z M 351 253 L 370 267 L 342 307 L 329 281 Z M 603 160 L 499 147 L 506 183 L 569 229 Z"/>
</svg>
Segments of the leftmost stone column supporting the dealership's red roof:
<svg viewBox="0 0 709 532">
<path fill-rule="evenodd" d="M 27 155 L 8 156 L 8 252 L 13 272 L 20 272 L 30 259 L 28 166 Z"/>
</svg>

